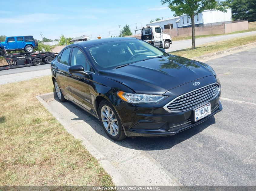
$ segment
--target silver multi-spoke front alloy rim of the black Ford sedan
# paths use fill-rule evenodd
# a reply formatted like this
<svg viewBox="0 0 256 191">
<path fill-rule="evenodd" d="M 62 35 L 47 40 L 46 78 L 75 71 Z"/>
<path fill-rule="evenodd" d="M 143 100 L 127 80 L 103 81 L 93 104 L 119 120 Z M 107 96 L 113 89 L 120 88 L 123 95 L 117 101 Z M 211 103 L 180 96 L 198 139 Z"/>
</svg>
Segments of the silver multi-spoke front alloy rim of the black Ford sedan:
<svg viewBox="0 0 256 191">
<path fill-rule="evenodd" d="M 119 128 L 117 118 L 113 110 L 107 105 L 104 105 L 101 108 L 101 120 L 105 129 L 110 135 L 116 136 L 118 134 Z"/>
</svg>

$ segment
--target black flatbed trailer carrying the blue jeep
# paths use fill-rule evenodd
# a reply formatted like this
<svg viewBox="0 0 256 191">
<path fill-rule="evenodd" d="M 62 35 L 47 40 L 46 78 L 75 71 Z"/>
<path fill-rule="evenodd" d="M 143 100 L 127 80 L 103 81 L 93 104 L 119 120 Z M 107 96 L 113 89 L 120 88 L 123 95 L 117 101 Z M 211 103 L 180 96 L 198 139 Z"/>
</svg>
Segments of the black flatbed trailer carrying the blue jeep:
<svg viewBox="0 0 256 191">
<path fill-rule="evenodd" d="M 33 52 L 33 53 L 12 53 L 7 54 L 6 51 L 0 50 L 0 57 L 2 56 L 7 65 L 0 66 L 0 70 L 7 70 L 12 68 L 22 68 L 32 65 L 41 65 L 43 63 L 49 64 L 58 55 L 52 52 Z"/>
</svg>

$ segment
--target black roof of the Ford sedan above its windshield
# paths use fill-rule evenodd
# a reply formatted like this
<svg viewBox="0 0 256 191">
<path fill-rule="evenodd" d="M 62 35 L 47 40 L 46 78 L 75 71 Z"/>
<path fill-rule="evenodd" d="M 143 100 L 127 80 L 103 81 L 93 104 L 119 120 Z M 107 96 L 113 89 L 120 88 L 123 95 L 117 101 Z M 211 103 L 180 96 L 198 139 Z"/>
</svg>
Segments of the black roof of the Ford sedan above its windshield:
<svg viewBox="0 0 256 191">
<path fill-rule="evenodd" d="M 135 40 L 135 39 L 136 38 L 132 38 L 132 37 L 102 38 L 102 39 L 94 39 L 94 40 L 81 41 L 79 43 L 70 44 L 68 46 L 81 45 L 83 47 L 88 47 L 88 46 L 93 46 L 93 45 L 98 45 L 98 44 L 103 44 L 103 43 L 109 43 L 109 42 L 115 42 L 115 41 L 120 41 L 120 40 Z M 68 47 L 68 46 L 66 46 L 66 47 Z"/>
</svg>

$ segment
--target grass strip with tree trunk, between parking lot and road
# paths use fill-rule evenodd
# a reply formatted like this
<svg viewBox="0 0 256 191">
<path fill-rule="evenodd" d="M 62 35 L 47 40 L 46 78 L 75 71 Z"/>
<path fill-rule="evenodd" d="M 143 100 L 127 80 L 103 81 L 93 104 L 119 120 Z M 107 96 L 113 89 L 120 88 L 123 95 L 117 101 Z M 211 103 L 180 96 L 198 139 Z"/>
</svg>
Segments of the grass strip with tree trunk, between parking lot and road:
<svg viewBox="0 0 256 191">
<path fill-rule="evenodd" d="M 219 41 L 216 43 L 202 44 L 202 45 L 196 46 L 195 49 L 191 49 L 191 48 L 182 49 L 182 50 L 170 52 L 170 54 L 183 56 L 186 58 L 193 58 L 197 56 L 202 56 L 204 54 L 214 53 L 220 50 L 229 49 L 229 48 L 233 48 L 236 46 L 241 46 L 241 45 L 253 43 L 253 42 L 256 42 L 256 35 L 234 38 L 234 39 Z"/>
</svg>

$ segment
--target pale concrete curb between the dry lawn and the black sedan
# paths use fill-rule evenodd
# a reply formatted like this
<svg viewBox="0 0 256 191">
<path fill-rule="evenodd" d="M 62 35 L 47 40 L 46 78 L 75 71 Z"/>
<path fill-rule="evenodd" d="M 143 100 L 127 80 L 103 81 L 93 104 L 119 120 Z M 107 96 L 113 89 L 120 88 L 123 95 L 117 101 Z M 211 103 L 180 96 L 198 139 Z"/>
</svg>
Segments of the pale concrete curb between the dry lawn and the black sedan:
<svg viewBox="0 0 256 191">
<path fill-rule="evenodd" d="M 52 115 L 65 127 L 68 126 L 68 124 L 65 123 L 65 120 L 61 116 L 59 116 L 58 113 L 56 113 L 54 110 L 52 110 L 51 107 L 48 106 L 48 104 L 45 102 L 44 98 L 52 97 L 53 92 L 42 94 L 39 96 L 36 96 L 38 101 L 42 103 L 42 105 L 50 112 Z M 99 162 L 101 167 L 105 169 L 105 171 L 111 176 L 112 181 L 115 185 L 127 185 L 122 175 L 118 172 L 118 170 L 103 156 L 93 145 L 91 145 L 88 140 L 78 134 L 74 134 L 73 132 L 69 131 L 68 128 L 65 128 L 70 134 L 72 134 L 75 138 L 80 139 L 82 141 L 82 144 L 85 146 L 85 148 L 91 153 L 91 155 L 96 158 L 96 160 Z"/>
</svg>

